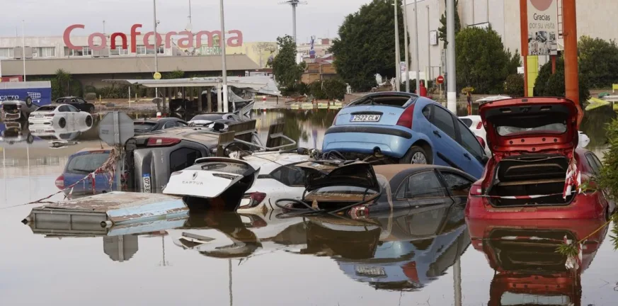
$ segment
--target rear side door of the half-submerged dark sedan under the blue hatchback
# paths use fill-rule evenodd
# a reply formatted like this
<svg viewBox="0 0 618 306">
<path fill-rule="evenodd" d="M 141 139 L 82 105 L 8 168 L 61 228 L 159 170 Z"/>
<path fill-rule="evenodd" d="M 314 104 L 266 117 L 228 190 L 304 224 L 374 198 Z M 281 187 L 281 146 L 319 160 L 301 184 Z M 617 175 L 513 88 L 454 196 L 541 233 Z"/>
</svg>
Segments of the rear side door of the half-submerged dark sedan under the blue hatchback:
<svg viewBox="0 0 618 306">
<path fill-rule="evenodd" d="M 451 205 L 453 203 L 444 184 L 438 179 L 434 170 L 425 170 L 408 176 L 395 193 L 394 201 L 403 200 L 407 202 L 406 206 L 410 208 L 420 208 L 427 205 Z M 404 206 L 404 203 L 399 202 L 399 205 Z"/>
</svg>

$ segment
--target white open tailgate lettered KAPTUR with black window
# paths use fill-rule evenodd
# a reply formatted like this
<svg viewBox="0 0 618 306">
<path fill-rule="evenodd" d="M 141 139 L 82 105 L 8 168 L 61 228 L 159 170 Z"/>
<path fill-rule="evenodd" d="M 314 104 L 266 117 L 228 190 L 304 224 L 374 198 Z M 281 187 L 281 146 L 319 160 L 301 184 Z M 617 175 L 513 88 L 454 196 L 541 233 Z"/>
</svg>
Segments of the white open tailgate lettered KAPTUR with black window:
<svg viewBox="0 0 618 306">
<path fill-rule="evenodd" d="M 173 172 L 163 193 L 197 198 L 217 198 L 244 178 L 257 176 L 254 169 L 239 159 L 205 157 L 193 166 Z M 252 183 L 255 181 L 251 181 Z M 251 186 L 249 186 L 251 187 Z"/>
</svg>

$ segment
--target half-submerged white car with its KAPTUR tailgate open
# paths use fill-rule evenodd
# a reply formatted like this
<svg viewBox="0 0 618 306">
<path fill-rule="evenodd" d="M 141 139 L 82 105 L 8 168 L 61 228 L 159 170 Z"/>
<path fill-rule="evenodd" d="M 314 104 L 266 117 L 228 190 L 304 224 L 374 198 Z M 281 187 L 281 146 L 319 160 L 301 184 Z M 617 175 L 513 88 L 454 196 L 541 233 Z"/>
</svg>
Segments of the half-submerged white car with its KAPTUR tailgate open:
<svg viewBox="0 0 618 306">
<path fill-rule="evenodd" d="M 310 159 L 282 152 L 255 152 L 242 159 L 203 157 L 172 173 L 163 193 L 189 197 L 189 205 L 213 205 L 209 201 L 221 199 L 227 210 L 265 214 L 277 209 L 280 198 L 302 198 L 304 171 L 294 165 Z"/>
</svg>

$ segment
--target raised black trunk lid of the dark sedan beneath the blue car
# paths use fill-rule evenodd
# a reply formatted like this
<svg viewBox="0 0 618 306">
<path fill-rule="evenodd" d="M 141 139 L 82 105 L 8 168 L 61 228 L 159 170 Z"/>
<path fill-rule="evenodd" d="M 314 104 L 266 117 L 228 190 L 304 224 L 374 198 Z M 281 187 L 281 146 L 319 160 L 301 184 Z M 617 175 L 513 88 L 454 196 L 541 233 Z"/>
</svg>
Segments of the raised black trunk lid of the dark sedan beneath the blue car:
<svg viewBox="0 0 618 306">
<path fill-rule="evenodd" d="M 307 192 L 328 186 L 355 186 L 379 191 L 373 166 L 367 162 L 344 163 L 339 160 L 304 162 L 296 165 L 305 171 Z"/>
</svg>

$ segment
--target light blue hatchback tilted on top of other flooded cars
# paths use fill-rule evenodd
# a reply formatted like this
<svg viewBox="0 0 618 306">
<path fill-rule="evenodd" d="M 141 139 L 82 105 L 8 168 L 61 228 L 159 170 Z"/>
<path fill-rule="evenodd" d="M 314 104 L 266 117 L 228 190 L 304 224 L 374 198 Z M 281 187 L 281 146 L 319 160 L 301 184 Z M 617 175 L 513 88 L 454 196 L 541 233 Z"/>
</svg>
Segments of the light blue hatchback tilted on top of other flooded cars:
<svg viewBox="0 0 618 306">
<path fill-rule="evenodd" d="M 451 166 L 476 179 L 488 160 L 479 140 L 456 115 L 435 101 L 404 92 L 368 94 L 353 101 L 325 134 L 324 152 Z"/>
</svg>

